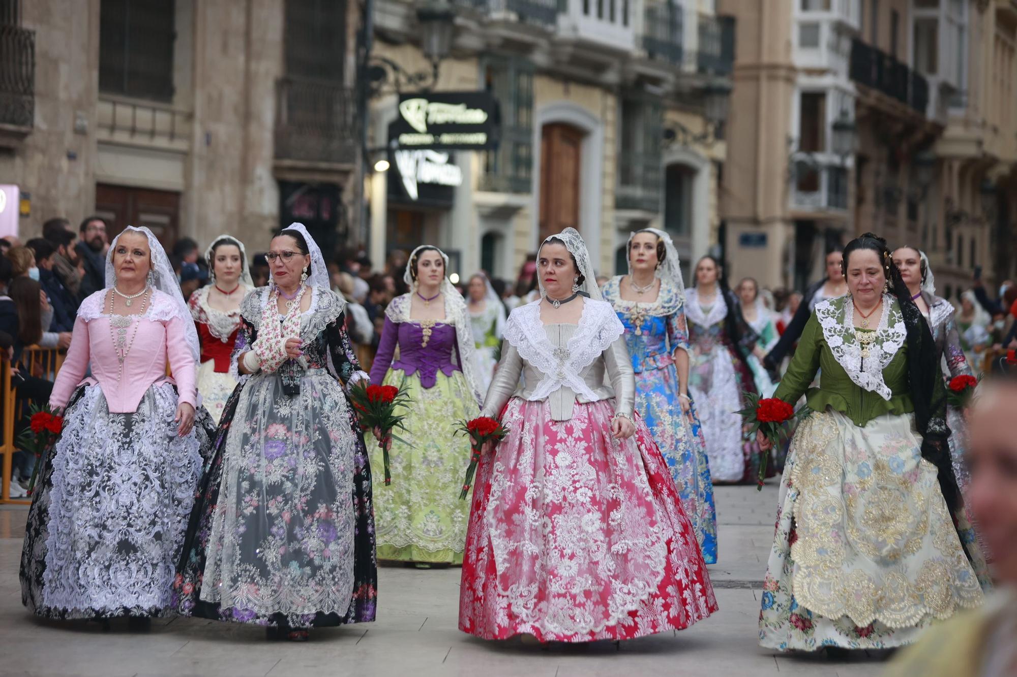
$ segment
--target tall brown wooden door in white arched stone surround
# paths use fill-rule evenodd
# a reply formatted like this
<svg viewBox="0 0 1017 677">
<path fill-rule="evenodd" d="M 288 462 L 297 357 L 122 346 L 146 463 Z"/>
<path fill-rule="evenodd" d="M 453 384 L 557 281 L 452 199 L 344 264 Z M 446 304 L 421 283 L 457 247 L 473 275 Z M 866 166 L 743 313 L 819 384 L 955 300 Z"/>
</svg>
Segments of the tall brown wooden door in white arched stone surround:
<svg viewBox="0 0 1017 677">
<path fill-rule="evenodd" d="M 583 132 L 563 124 L 545 125 L 540 143 L 540 239 L 579 228 Z"/>
</svg>

